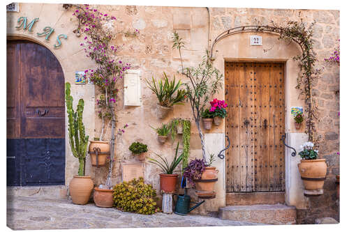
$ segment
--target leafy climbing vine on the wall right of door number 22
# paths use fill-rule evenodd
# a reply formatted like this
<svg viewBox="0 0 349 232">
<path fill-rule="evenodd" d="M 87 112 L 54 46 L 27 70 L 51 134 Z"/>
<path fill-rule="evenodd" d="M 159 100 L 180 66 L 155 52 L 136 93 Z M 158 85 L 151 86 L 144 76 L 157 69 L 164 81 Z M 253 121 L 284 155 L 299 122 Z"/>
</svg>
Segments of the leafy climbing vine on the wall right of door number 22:
<svg viewBox="0 0 349 232">
<path fill-rule="evenodd" d="M 297 86 L 295 88 L 301 91 L 299 97 L 304 99 L 304 112 L 306 114 L 306 134 L 308 134 L 309 141 L 318 141 L 316 133 L 315 121 L 318 118 L 318 109 L 316 102 L 311 93 L 313 83 L 321 70 L 315 68 L 316 54 L 313 51 L 313 25 L 315 22 L 306 26 L 302 18 L 300 22 L 290 21 L 286 26 L 279 26 L 273 22 L 274 26 L 278 26 L 280 31 L 280 40 L 297 42 L 302 49 L 302 54 L 295 56 L 295 61 L 299 61 L 299 67 L 301 68 L 301 75 L 297 77 Z"/>
</svg>

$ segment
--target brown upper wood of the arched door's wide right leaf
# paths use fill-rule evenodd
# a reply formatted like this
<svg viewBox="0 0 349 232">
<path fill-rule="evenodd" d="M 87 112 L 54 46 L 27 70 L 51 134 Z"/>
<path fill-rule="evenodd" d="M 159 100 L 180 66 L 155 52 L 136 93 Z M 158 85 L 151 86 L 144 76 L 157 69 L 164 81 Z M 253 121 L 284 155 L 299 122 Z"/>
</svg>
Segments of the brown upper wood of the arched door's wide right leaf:
<svg viewBox="0 0 349 232">
<path fill-rule="evenodd" d="M 43 46 L 24 42 L 21 51 L 21 136 L 32 139 L 64 138 L 64 76 L 61 65 Z"/>
</svg>

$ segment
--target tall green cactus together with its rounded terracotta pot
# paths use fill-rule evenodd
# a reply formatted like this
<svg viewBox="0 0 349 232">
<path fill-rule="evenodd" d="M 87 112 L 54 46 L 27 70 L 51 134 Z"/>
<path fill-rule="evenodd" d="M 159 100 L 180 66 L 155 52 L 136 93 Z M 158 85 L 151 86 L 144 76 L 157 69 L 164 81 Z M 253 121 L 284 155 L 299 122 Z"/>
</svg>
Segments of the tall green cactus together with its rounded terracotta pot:
<svg viewBox="0 0 349 232">
<path fill-rule="evenodd" d="M 85 127 L 82 122 L 84 100 L 80 99 L 77 109 L 73 109 L 73 97 L 70 95 L 70 83 L 66 82 L 66 109 L 68 113 L 68 137 L 70 149 L 79 159 L 79 171 L 69 183 L 69 192 L 73 203 L 84 205 L 89 201 L 94 183 L 91 176 L 84 176 L 87 143 L 89 136 L 85 135 Z"/>
</svg>

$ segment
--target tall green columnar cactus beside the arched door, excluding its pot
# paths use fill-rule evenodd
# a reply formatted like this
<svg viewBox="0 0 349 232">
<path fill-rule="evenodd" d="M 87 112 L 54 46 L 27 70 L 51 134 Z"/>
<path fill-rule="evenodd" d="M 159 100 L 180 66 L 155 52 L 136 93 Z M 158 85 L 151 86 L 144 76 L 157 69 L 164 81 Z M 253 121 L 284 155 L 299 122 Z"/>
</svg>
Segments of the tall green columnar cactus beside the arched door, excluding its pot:
<svg viewBox="0 0 349 232">
<path fill-rule="evenodd" d="M 70 95 L 70 83 L 66 82 L 66 109 L 68 113 L 69 144 L 74 157 L 79 159 L 79 176 L 84 176 L 84 164 L 86 159 L 87 144 L 89 136 L 85 135 L 84 123 L 82 123 L 82 112 L 84 111 L 84 100 L 80 99 L 77 109 L 73 109 L 73 97 Z"/>
</svg>

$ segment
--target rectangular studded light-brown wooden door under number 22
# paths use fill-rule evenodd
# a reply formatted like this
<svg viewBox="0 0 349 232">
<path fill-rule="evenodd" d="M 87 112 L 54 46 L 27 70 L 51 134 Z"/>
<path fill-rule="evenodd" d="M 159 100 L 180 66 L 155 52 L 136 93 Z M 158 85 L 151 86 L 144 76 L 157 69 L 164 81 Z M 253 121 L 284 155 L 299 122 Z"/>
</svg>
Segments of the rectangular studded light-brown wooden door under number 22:
<svg viewBox="0 0 349 232">
<path fill-rule="evenodd" d="M 283 63 L 225 63 L 227 192 L 285 190 Z"/>
</svg>

